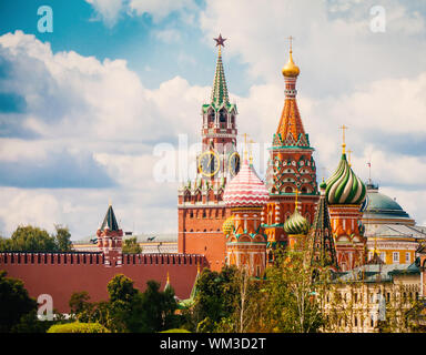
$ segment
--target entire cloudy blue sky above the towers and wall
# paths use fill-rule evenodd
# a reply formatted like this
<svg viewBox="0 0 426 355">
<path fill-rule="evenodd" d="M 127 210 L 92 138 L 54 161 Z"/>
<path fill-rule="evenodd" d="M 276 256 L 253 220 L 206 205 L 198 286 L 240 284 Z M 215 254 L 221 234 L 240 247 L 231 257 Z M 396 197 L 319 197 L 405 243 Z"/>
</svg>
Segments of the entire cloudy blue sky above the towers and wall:
<svg viewBox="0 0 426 355">
<path fill-rule="evenodd" d="M 176 233 L 220 33 L 261 176 L 293 36 L 318 181 L 337 168 L 345 124 L 355 173 L 426 225 L 424 0 L 2 0 L 0 235 L 62 224 L 85 239 L 109 202 L 124 231 Z"/>
</svg>

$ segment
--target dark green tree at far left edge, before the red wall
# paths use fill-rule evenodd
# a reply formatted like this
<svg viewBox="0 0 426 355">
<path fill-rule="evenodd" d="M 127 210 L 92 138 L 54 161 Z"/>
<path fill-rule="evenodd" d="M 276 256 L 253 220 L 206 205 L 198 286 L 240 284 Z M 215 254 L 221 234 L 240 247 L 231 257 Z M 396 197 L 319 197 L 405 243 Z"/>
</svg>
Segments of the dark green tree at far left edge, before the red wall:
<svg viewBox="0 0 426 355">
<path fill-rule="evenodd" d="M 21 280 L 6 275 L 6 271 L 0 271 L 0 333 L 10 332 L 22 316 L 36 312 L 38 306 Z"/>
</svg>

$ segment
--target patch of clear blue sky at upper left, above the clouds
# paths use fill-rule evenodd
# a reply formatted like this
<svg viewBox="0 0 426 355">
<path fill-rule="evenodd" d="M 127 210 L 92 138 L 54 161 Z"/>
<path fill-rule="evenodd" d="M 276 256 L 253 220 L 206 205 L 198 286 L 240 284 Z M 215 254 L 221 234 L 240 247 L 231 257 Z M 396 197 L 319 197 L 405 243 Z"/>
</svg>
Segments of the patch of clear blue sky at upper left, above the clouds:
<svg viewBox="0 0 426 355">
<path fill-rule="evenodd" d="M 53 9 L 53 33 L 40 33 L 37 30 L 37 10 L 40 6 L 50 6 Z M 184 13 L 172 11 L 158 21 L 149 12 L 142 16 L 121 13 L 112 26 L 98 20 L 100 16 L 85 1 L 7 0 L 0 4 L 0 32 L 22 30 L 32 33 L 41 41 L 49 41 L 54 52 L 73 50 L 100 60 L 124 58 L 129 68 L 138 72 L 143 83 L 151 89 L 176 74 L 191 84 L 203 85 L 212 81 L 214 42 L 213 39 L 205 41 L 196 22 L 192 24 L 187 20 L 194 17 L 196 21 L 197 10 L 203 8 L 203 1 L 194 1 L 193 9 L 185 10 Z M 179 34 L 170 40 L 159 40 L 155 37 L 156 31 L 168 30 Z M 244 81 L 242 74 L 244 64 L 237 58 L 233 58 L 230 65 L 233 63 L 235 69 L 229 72 L 229 79 L 235 82 L 236 93 L 246 93 L 248 82 Z"/>
</svg>

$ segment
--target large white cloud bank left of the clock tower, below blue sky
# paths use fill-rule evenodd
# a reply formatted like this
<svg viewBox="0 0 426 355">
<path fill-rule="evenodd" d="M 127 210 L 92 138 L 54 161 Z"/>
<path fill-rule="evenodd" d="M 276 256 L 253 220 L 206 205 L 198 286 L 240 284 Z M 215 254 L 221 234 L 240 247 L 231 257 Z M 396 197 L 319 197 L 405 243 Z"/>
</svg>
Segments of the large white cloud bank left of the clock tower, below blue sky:
<svg viewBox="0 0 426 355">
<path fill-rule="evenodd" d="M 70 226 L 73 239 L 83 237 L 94 233 L 109 197 L 123 227 L 132 229 L 135 223 L 139 232 L 175 231 L 178 183 L 155 180 L 153 165 L 159 158 L 153 156 L 153 148 L 179 133 L 197 136 L 200 108 L 210 88 L 191 87 L 176 77 L 148 90 L 125 61 L 52 53 L 48 43 L 20 31 L 0 37 L 0 54 L 14 68 L 9 88 L 27 102 L 22 126 L 38 134 L 30 140 L 2 138 L 0 160 L 22 166 L 29 162 L 36 169 L 61 151 L 77 159 L 89 154 L 119 184 L 109 189 L 1 187 L 7 199 L 0 209 L 2 233 L 10 235 L 18 224 L 27 223 L 52 231 L 60 223 Z M 0 116 L 3 124 L 13 123 L 10 116 Z"/>
</svg>

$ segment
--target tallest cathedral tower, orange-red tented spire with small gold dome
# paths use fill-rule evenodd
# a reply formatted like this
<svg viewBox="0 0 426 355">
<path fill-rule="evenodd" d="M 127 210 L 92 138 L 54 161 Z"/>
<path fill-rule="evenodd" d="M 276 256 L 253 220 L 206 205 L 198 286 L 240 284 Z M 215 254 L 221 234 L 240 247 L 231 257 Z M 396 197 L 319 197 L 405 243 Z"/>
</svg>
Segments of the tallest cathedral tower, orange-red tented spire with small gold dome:
<svg viewBox="0 0 426 355">
<path fill-rule="evenodd" d="M 296 81 L 300 72 L 293 61 L 291 47 L 288 62 L 282 70 L 285 81 L 284 108 L 273 136 L 266 172 L 271 202 L 264 207 L 263 225 L 267 234 L 270 261 L 271 248 L 280 244 L 286 245 L 288 242 L 284 223 L 294 212 L 296 191 L 300 192 L 302 205 L 300 213 L 310 224 L 313 222 L 318 201 L 316 165 L 312 156 L 314 149 L 303 126 L 296 101 Z"/>
</svg>

